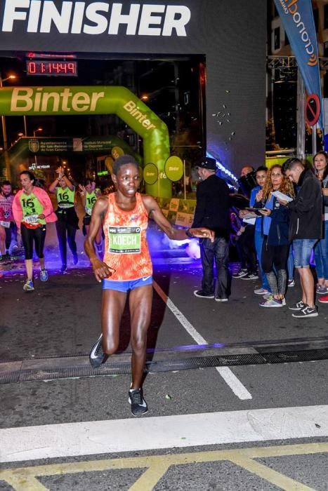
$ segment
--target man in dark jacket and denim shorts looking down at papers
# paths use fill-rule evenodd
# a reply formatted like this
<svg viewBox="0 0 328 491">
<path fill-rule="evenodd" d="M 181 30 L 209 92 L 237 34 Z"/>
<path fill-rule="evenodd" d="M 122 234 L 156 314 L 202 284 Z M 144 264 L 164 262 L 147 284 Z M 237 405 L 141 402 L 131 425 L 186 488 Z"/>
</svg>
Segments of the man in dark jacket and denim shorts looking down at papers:
<svg viewBox="0 0 328 491">
<path fill-rule="evenodd" d="M 316 317 L 314 279 L 310 271 L 311 251 L 322 236 L 322 191 L 319 180 L 299 159 L 288 159 L 282 166 L 284 175 L 297 184 L 296 199 L 287 203 L 289 209 L 289 240 L 293 241 L 295 268 L 301 278 L 302 300 L 290 305 L 293 317 Z"/>
</svg>

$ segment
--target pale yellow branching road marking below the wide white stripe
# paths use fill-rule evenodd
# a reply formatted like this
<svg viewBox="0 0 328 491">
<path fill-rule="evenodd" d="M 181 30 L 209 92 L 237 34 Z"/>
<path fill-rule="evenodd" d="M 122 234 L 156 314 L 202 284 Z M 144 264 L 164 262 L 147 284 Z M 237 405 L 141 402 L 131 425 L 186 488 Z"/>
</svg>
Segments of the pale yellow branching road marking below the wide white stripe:
<svg viewBox="0 0 328 491">
<path fill-rule="evenodd" d="M 288 491 L 310 491 L 311 488 L 256 462 L 262 457 L 287 457 L 293 455 L 315 455 L 327 453 L 328 443 L 304 443 L 270 447 L 241 448 L 237 450 L 211 450 L 188 452 L 176 455 L 151 455 L 148 457 L 126 457 L 118 459 L 71 462 L 70 464 L 48 464 L 28 466 L 0 471 L 0 480 L 6 481 L 15 491 L 44 491 L 37 477 L 65 475 L 70 473 L 109 471 L 112 469 L 146 469 L 130 491 L 150 491 L 164 476 L 169 466 L 199 464 L 204 462 L 230 461 L 270 483 Z"/>
</svg>

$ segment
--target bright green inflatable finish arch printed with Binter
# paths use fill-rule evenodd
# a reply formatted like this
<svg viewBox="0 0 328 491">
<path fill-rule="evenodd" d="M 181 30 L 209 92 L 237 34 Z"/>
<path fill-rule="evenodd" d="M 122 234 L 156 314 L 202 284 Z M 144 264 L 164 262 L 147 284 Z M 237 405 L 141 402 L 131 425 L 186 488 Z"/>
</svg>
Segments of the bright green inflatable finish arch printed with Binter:
<svg viewBox="0 0 328 491">
<path fill-rule="evenodd" d="M 144 165 L 155 163 L 159 181 L 146 185 L 152 196 L 171 197 L 171 182 L 164 173 L 169 157 L 169 132 L 164 121 L 125 87 L 5 87 L 0 89 L 0 114 L 39 116 L 117 114 L 143 137 Z"/>
</svg>

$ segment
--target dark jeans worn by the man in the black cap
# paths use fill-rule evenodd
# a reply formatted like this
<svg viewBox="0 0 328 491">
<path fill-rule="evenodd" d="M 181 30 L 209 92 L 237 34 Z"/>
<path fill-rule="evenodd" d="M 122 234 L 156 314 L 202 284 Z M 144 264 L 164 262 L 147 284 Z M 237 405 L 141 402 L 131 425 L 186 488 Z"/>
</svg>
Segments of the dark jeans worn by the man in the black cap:
<svg viewBox="0 0 328 491">
<path fill-rule="evenodd" d="M 216 237 L 214 242 L 209 238 L 199 241 L 200 257 L 202 259 L 203 278 L 202 290 L 214 293 L 214 262 L 216 264 L 216 296 L 228 298 L 230 280 L 228 273 L 229 243 L 224 237 Z"/>
</svg>

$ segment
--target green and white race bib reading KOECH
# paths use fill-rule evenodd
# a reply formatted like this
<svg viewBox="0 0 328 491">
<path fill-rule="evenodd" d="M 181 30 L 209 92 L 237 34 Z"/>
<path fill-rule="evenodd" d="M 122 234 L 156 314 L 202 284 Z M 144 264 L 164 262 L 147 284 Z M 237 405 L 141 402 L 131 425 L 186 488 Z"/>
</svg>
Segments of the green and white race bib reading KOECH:
<svg viewBox="0 0 328 491">
<path fill-rule="evenodd" d="M 136 254 L 141 250 L 140 227 L 108 227 L 109 252 Z"/>
</svg>

